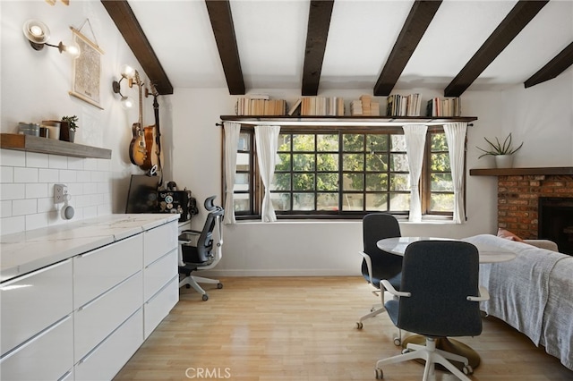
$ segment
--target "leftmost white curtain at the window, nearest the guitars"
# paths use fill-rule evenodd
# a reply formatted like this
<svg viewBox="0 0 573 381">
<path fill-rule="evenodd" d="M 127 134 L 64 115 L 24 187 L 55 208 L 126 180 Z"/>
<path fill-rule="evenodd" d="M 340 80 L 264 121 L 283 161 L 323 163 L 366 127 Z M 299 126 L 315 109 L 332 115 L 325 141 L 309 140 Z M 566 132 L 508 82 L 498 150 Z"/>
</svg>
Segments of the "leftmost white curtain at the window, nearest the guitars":
<svg viewBox="0 0 573 381">
<path fill-rule="evenodd" d="M 225 131 L 225 218 L 224 224 L 235 224 L 235 203 L 233 189 L 235 188 L 236 148 L 241 132 L 240 123 L 223 122 Z"/>
</svg>

